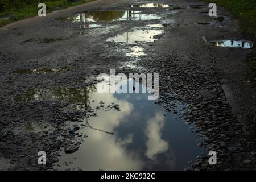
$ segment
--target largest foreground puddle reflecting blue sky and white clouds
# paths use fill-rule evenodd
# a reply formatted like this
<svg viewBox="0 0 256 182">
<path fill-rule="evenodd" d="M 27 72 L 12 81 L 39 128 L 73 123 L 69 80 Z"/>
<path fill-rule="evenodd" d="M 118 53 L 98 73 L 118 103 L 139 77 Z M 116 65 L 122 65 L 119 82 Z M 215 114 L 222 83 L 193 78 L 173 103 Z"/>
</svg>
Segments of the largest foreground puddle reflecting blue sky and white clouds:
<svg viewBox="0 0 256 182">
<path fill-rule="evenodd" d="M 196 133 L 185 125 L 181 114 L 185 104 L 176 102 L 174 114 L 148 100 L 148 93 L 92 91 L 89 96 L 96 116 L 80 123 L 76 132 L 84 137 L 79 150 L 72 154 L 61 151 L 56 169 L 183 170 L 201 152 L 205 154 L 196 145 Z"/>
</svg>

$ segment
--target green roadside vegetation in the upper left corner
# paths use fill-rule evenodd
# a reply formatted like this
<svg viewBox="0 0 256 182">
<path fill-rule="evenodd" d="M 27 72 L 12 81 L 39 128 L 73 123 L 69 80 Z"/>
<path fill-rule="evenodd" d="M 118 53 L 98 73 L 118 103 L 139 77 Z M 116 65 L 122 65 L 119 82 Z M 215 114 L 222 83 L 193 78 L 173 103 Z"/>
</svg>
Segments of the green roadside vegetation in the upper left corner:
<svg viewBox="0 0 256 182">
<path fill-rule="evenodd" d="M 0 27 L 38 15 L 38 4 L 46 4 L 46 13 L 93 0 L 0 0 Z"/>
</svg>

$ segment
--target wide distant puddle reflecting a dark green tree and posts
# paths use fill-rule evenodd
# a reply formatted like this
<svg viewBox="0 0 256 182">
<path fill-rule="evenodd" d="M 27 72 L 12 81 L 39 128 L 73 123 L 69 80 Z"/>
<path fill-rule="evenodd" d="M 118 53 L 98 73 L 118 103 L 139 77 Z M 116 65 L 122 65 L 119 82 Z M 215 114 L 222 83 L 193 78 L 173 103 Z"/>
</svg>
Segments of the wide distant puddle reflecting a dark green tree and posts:
<svg viewBox="0 0 256 182">
<path fill-rule="evenodd" d="M 89 11 L 87 13 L 77 14 L 65 20 L 75 22 L 112 22 L 112 21 L 139 21 L 160 19 L 156 14 L 142 14 L 141 11 Z"/>
</svg>

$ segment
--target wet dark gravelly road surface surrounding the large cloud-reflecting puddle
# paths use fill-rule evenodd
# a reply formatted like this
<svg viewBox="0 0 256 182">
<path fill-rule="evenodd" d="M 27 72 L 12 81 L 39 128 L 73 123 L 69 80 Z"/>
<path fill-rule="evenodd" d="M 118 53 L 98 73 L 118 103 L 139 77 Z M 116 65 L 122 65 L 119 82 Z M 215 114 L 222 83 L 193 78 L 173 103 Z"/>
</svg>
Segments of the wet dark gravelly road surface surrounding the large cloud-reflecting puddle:
<svg viewBox="0 0 256 182">
<path fill-rule="evenodd" d="M 69 168 L 60 159 L 64 153 L 79 151 L 90 138 L 80 129 L 90 127 L 84 119 L 96 117 L 101 104 L 90 108 L 86 95 L 90 91 L 84 88 L 93 89 L 98 74 L 109 74 L 113 68 L 127 75 L 159 73 L 155 105 L 193 125 L 193 133 L 200 137 L 195 143 L 207 151 L 187 160 L 183 169 L 255 169 L 256 78 L 246 61 L 255 47 L 208 43 L 253 40 L 242 35 L 238 21 L 220 7 L 221 18 L 210 18 L 204 2 L 128 6 L 150 2 L 94 1 L 0 29 L 1 169 L 86 170 Z M 82 22 L 81 13 L 88 12 L 96 22 Z M 125 13 L 130 16 L 122 19 Z M 186 106 L 179 111 L 181 102 Z M 122 111 L 121 104 L 111 104 L 108 109 Z M 46 165 L 38 164 L 41 150 L 46 151 Z M 217 152 L 217 165 L 208 163 L 210 150 Z"/>
</svg>

